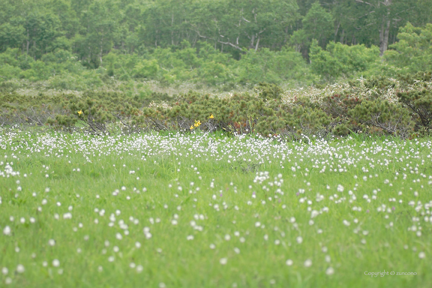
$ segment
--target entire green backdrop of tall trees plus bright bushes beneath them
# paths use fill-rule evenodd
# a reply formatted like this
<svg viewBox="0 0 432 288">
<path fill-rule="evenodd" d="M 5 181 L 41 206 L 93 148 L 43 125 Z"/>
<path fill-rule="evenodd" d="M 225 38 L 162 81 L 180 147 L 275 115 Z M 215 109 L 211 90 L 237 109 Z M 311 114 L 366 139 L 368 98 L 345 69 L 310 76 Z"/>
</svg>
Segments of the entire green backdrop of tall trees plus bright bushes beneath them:
<svg viewBox="0 0 432 288">
<path fill-rule="evenodd" d="M 432 0 L 0 0 L 0 89 L 392 77 L 432 69 L 431 22 Z"/>
</svg>

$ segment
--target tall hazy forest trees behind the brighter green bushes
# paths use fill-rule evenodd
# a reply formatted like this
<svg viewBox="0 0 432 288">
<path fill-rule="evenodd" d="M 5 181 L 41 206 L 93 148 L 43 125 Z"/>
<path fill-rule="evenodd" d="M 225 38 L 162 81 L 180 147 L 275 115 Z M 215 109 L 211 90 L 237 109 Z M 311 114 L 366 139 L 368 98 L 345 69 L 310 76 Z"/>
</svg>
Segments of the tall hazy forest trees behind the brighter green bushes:
<svg viewBox="0 0 432 288">
<path fill-rule="evenodd" d="M 20 48 L 38 60 L 58 48 L 70 49 L 86 66 L 98 67 L 111 50 L 142 55 L 157 47 L 181 47 L 184 40 L 193 46 L 205 40 L 237 56 L 244 49 L 279 50 L 290 41 L 301 44 L 300 39 L 305 40 L 304 49 L 312 39 L 321 47 L 329 41 L 381 47 L 383 41 L 396 42 L 399 27 L 407 22 L 430 23 L 430 4 L 429 0 L 2 0 L 0 50 Z M 383 35 L 387 40 L 380 39 L 380 33 L 387 34 Z"/>
</svg>

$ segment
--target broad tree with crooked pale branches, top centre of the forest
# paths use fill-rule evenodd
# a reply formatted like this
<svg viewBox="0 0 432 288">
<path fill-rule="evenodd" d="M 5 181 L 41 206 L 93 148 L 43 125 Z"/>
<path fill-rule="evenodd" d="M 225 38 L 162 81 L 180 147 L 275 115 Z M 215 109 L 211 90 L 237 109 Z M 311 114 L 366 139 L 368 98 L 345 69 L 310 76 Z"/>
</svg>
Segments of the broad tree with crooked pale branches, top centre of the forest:
<svg viewBox="0 0 432 288">
<path fill-rule="evenodd" d="M 195 11 L 194 31 L 221 50 L 278 48 L 298 19 L 293 0 L 208 1 Z"/>
</svg>

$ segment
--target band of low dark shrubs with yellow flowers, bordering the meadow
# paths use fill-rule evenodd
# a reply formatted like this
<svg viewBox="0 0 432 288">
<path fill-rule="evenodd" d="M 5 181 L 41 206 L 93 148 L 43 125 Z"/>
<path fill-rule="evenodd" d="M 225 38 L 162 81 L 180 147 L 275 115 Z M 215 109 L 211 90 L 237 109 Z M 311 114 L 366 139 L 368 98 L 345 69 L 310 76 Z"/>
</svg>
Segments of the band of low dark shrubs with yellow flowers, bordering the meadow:
<svg viewBox="0 0 432 288">
<path fill-rule="evenodd" d="M 36 96 L 10 92 L 0 94 L 0 124 L 85 129 L 98 135 L 120 129 L 127 133 L 219 130 L 290 139 L 350 132 L 409 138 L 429 134 L 432 128 L 431 76 L 371 77 L 289 91 L 261 83 L 255 93 L 226 97 L 192 91 L 174 97 L 109 91 Z"/>
</svg>

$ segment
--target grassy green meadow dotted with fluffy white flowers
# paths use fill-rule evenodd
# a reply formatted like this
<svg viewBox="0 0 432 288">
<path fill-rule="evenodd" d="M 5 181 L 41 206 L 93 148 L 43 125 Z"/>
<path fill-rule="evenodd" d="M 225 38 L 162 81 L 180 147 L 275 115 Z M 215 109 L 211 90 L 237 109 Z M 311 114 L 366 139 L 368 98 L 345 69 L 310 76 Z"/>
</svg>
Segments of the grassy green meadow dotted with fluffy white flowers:
<svg viewBox="0 0 432 288">
<path fill-rule="evenodd" d="M 0 130 L 0 286 L 429 287 L 432 139 L 352 137 Z"/>
</svg>

